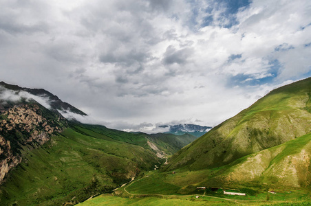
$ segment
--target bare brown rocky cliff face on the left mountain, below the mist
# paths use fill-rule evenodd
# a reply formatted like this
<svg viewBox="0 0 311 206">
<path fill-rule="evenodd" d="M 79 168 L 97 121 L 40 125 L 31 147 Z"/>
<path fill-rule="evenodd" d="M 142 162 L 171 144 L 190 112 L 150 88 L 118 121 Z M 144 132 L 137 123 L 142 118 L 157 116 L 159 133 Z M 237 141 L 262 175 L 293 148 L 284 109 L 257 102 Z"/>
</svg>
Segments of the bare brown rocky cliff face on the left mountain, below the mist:
<svg viewBox="0 0 311 206">
<path fill-rule="evenodd" d="M 61 133 L 59 122 L 43 117 L 37 104 L 19 104 L 1 110 L 0 116 L 0 183 L 23 159 L 24 147 L 36 148 Z M 61 117 L 58 117 L 60 119 Z"/>
</svg>

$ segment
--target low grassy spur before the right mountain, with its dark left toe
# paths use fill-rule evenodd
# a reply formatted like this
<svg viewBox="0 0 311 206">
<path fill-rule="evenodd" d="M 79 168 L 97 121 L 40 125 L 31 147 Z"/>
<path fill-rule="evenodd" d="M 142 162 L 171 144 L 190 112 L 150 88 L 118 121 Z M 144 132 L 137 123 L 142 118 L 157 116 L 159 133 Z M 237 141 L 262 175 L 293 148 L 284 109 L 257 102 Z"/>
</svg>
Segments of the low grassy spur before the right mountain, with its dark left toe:
<svg viewBox="0 0 311 206">
<path fill-rule="evenodd" d="M 156 180 L 160 180 L 160 185 L 153 183 Z M 241 190 L 248 188 L 260 191 L 267 191 L 270 188 L 276 190 L 302 188 L 310 191 L 310 181 L 311 134 L 308 134 L 242 157 L 219 168 L 192 172 L 176 170 L 175 174 L 153 172 L 147 178 L 130 185 L 128 191 L 133 194 L 144 194 L 143 192 L 187 194 L 191 192 L 191 187 L 194 191 L 197 186 L 233 187 Z M 164 186 L 166 184 L 168 186 Z M 162 190 L 159 193 L 160 188 Z"/>
</svg>

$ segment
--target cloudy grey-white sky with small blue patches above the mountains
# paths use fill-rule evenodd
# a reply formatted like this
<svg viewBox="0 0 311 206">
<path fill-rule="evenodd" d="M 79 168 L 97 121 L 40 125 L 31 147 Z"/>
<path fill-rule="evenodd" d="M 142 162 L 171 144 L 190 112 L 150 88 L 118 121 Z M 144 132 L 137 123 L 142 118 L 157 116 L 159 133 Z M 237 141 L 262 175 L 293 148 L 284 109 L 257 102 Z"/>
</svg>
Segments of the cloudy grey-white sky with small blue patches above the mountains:
<svg viewBox="0 0 311 206">
<path fill-rule="evenodd" d="M 215 126 L 311 76 L 310 0 L 0 0 L 0 76 L 86 121 Z"/>
</svg>

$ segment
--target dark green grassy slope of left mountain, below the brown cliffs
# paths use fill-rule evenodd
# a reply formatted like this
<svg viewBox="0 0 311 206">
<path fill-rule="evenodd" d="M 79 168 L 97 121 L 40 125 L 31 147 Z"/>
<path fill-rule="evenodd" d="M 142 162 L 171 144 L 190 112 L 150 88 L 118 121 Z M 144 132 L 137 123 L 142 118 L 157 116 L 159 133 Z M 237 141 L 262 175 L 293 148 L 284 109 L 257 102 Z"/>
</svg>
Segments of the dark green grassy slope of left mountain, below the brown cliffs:
<svg viewBox="0 0 311 206">
<path fill-rule="evenodd" d="M 23 162 L 1 185 L 1 204 L 61 205 L 84 201 L 150 170 L 158 160 L 150 150 L 93 133 L 68 128 L 35 150 L 26 150 Z"/>
</svg>

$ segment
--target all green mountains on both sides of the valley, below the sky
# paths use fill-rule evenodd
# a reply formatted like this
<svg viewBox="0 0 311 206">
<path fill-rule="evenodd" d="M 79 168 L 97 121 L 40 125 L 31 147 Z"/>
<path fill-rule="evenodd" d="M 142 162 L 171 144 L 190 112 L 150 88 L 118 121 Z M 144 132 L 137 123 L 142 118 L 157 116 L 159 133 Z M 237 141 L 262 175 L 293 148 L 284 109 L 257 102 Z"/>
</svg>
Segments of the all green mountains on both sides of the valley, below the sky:
<svg viewBox="0 0 311 206">
<path fill-rule="evenodd" d="M 94 201 L 112 195 L 125 205 L 129 197 L 153 198 L 151 205 L 160 198 L 163 204 L 172 198 L 205 204 L 211 196 L 230 202 L 219 194 L 223 190 L 245 193 L 243 203 L 266 204 L 261 201 L 274 198 L 275 190 L 281 204 L 310 203 L 311 78 L 270 91 L 214 128 L 162 126 L 184 135 L 125 133 L 69 121 L 59 111 L 86 114 L 41 89 L 1 82 L 0 95 L 2 205 L 74 205 L 103 193 L 109 195 Z M 197 138 L 188 134 L 194 128 L 208 132 Z M 250 198 L 254 202 L 246 202 Z"/>
</svg>

